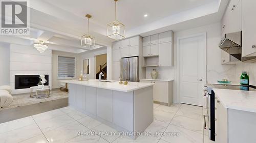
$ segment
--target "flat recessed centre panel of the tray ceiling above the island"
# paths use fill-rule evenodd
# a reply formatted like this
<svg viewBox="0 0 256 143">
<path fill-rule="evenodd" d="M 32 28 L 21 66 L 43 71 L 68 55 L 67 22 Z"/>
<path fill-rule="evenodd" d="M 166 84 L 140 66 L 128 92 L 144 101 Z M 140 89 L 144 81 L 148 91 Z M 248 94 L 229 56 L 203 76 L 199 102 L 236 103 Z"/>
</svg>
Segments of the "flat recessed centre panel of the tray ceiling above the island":
<svg viewBox="0 0 256 143">
<path fill-rule="evenodd" d="M 114 0 L 43 0 L 62 10 L 84 18 L 91 14 L 92 20 L 105 26 L 115 19 Z M 119 0 L 117 2 L 117 19 L 125 23 L 126 30 L 154 22 L 164 17 L 193 9 L 216 0 Z M 144 14 L 148 17 L 144 18 Z"/>
</svg>

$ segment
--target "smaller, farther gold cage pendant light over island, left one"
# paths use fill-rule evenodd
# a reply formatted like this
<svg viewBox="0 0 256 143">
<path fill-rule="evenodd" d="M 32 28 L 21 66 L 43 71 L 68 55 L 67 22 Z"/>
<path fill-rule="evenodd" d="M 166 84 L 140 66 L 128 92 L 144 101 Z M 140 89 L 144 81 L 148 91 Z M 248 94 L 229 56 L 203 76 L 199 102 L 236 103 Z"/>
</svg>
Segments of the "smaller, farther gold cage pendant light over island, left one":
<svg viewBox="0 0 256 143">
<path fill-rule="evenodd" d="M 92 16 L 90 14 L 87 14 L 86 17 L 88 18 L 88 30 L 87 34 L 81 36 L 81 46 L 88 48 L 95 47 L 95 37 L 89 34 L 89 18 L 91 18 Z"/>
</svg>

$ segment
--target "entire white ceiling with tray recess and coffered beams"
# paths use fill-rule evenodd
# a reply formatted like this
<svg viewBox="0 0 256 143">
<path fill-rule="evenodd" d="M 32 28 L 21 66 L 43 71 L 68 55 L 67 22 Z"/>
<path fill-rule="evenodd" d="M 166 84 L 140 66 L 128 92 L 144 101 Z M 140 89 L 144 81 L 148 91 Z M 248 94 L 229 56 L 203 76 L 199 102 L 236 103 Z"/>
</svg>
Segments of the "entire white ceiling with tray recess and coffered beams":
<svg viewBox="0 0 256 143">
<path fill-rule="evenodd" d="M 147 36 L 167 30 L 179 31 L 219 22 L 228 0 L 119 0 L 118 20 L 126 26 L 126 37 Z M 54 50 L 80 53 L 110 46 L 106 24 L 114 20 L 114 0 L 37 0 L 30 1 L 30 36 L 0 36 L 0 42 L 32 45 L 44 40 Z M 87 32 L 96 37 L 95 48 L 80 46 Z M 147 14 L 147 17 L 143 15 Z"/>
</svg>

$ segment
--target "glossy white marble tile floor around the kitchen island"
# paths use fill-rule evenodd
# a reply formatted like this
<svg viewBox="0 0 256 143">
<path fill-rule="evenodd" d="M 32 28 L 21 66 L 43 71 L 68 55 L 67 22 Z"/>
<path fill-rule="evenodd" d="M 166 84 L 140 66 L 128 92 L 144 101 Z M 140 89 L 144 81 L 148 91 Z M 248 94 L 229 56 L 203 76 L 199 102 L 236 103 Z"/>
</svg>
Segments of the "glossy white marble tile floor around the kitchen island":
<svg viewBox="0 0 256 143">
<path fill-rule="evenodd" d="M 127 136 L 104 135 L 115 129 L 71 108 L 64 107 L 0 124 L 2 142 L 203 142 L 202 107 L 154 104 L 154 122 L 136 140 Z M 78 134 L 80 132 L 80 135 Z"/>
</svg>

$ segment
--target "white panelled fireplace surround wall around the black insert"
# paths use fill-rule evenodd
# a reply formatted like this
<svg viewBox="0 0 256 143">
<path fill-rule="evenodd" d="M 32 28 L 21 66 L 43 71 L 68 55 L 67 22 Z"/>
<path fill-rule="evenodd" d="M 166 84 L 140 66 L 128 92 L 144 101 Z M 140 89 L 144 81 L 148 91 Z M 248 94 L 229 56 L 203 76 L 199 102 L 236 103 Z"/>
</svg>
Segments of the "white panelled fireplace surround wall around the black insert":
<svg viewBox="0 0 256 143">
<path fill-rule="evenodd" d="M 52 50 L 39 53 L 33 46 L 10 45 L 10 85 L 12 94 L 28 93 L 30 89 L 14 90 L 15 75 L 48 74 L 52 83 Z M 38 77 L 39 78 L 39 77 Z"/>
</svg>

